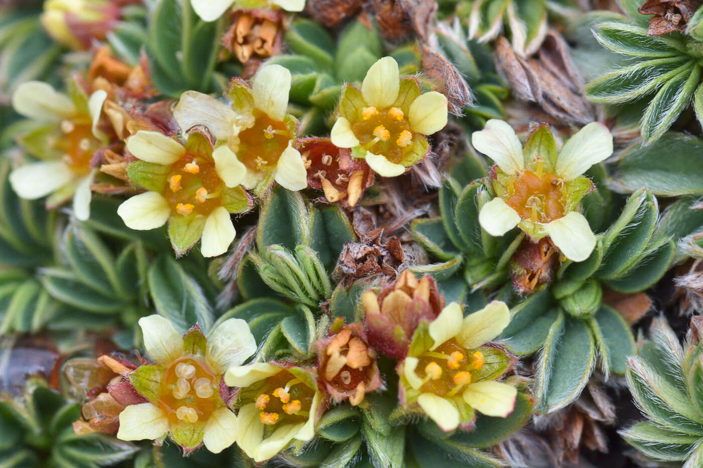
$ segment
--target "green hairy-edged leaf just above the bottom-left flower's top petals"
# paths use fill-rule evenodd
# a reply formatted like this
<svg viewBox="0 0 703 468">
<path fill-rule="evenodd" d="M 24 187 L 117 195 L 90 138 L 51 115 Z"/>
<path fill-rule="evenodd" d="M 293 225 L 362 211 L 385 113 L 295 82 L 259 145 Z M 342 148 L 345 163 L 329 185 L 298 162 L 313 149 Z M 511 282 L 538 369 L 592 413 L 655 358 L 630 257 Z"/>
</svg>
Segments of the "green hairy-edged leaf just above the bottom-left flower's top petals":
<svg viewBox="0 0 703 468">
<path fill-rule="evenodd" d="M 150 266 L 147 278 L 156 311 L 171 320 L 176 330 L 185 333 L 198 323 L 203 332 L 209 332 L 212 309 L 200 285 L 178 262 L 161 256 Z"/>
</svg>

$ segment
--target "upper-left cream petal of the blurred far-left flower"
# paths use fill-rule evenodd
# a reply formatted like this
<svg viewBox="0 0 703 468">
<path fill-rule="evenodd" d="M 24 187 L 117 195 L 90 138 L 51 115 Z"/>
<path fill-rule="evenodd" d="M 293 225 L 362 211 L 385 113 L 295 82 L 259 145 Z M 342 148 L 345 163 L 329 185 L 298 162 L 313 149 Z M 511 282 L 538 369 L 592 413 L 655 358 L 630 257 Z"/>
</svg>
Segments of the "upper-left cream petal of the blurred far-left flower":
<svg viewBox="0 0 703 468">
<path fill-rule="evenodd" d="M 12 95 L 12 107 L 20 115 L 44 121 L 73 117 L 77 112 L 68 96 L 44 82 L 20 84 Z"/>
</svg>

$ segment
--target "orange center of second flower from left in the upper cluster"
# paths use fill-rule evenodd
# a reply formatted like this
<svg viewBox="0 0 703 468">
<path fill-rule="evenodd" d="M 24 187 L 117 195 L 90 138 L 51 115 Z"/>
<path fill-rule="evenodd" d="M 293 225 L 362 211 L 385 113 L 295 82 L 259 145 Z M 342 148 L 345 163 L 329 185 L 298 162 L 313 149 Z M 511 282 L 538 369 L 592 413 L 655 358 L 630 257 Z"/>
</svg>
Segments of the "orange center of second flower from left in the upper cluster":
<svg viewBox="0 0 703 468">
<path fill-rule="evenodd" d="M 172 212 L 207 216 L 220 206 L 222 181 L 210 160 L 186 154 L 173 164 L 167 181 L 164 197 Z"/>
</svg>

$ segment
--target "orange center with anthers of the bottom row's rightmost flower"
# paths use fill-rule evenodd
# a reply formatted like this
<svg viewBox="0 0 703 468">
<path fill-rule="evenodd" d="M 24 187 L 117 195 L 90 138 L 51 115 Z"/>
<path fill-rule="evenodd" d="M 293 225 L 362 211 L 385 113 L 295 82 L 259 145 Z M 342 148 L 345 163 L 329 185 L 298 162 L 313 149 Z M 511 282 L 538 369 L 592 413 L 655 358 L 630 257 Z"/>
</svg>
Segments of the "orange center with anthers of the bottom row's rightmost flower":
<svg viewBox="0 0 703 468">
<path fill-rule="evenodd" d="M 421 390 L 441 397 L 458 394 L 484 365 L 481 351 L 467 351 L 454 339 L 425 351 L 418 360 L 415 373 L 425 382 Z"/>
</svg>

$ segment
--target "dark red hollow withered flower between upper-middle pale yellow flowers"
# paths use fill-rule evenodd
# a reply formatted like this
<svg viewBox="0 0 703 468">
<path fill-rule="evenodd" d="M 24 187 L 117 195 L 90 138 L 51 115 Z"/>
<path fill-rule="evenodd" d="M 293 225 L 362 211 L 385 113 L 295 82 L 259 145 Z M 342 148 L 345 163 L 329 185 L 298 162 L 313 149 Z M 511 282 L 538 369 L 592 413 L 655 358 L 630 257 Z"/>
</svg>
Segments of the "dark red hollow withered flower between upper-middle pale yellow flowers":
<svg viewBox="0 0 703 468">
<path fill-rule="evenodd" d="M 300 138 L 297 147 L 308 174 L 308 186 L 325 193 L 330 203 L 354 207 L 373 184 L 373 171 L 363 160 L 354 160 L 347 148 L 337 148 L 329 138 Z"/>
</svg>

